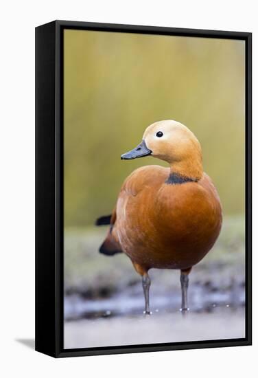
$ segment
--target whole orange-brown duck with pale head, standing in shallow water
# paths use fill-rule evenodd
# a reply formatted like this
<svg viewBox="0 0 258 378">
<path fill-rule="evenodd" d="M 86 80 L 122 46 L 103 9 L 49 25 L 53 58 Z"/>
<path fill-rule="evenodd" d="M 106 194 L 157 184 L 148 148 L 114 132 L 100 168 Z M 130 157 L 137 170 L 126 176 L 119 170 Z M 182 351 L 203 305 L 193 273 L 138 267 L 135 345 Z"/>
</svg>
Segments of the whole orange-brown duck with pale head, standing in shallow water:
<svg viewBox="0 0 258 378">
<path fill-rule="evenodd" d="M 139 146 L 121 155 L 130 160 L 151 155 L 169 167 L 143 166 L 124 181 L 99 252 L 124 252 L 142 277 L 145 313 L 150 314 L 151 268 L 180 269 L 183 312 L 193 265 L 213 247 L 222 226 L 222 206 L 202 169 L 200 143 L 183 124 L 165 120 L 148 126 Z"/>
</svg>

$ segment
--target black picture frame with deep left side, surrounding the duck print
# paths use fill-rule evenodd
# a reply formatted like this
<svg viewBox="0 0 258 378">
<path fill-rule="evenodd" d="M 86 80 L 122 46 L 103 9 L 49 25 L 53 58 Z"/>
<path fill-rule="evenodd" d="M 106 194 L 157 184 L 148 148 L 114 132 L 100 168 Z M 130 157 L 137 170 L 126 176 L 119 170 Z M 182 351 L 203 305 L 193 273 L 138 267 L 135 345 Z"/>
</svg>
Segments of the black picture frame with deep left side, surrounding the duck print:
<svg viewBox="0 0 258 378">
<path fill-rule="evenodd" d="M 65 29 L 239 39 L 246 44 L 246 337 L 166 344 L 63 348 L 63 31 Z M 250 345 L 252 342 L 252 34 L 53 21 L 36 27 L 36 351 L 52 357 Z"/>
</svg>

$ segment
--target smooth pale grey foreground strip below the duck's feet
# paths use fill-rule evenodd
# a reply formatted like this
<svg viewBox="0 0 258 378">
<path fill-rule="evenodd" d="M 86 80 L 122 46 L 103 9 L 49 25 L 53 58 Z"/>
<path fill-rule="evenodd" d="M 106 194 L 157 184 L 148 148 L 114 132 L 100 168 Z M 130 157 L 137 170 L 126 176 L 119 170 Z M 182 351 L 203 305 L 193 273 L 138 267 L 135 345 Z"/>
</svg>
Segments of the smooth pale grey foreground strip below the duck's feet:
<svg viewBox="0 0 258 378">
<path fill-rule="evenodd" d="M 211 313 L 159 311 L 65 322 L 65 348 L 156 344 L 245 337 L 244 309 Z"/>
</svg>

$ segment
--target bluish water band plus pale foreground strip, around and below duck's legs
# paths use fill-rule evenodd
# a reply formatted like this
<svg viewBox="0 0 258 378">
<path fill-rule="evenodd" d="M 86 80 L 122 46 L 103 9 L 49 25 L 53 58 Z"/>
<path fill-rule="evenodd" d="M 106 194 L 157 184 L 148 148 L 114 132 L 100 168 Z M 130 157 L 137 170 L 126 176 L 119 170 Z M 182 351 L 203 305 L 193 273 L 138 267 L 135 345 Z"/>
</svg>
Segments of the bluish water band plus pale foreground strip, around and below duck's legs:
<svg viewBox="0 0 258 378">
<path fill-rule="evenodd" d="M 143 315 L 141 284 L 103 299 L 65 297 L 65 348 L 156 344 L 245 337 L 243 280 L 227 285 L 192 282 L 190 311 L 180 313 L 180 289 L 151 291 L 152 315 Z"/>
</svg>

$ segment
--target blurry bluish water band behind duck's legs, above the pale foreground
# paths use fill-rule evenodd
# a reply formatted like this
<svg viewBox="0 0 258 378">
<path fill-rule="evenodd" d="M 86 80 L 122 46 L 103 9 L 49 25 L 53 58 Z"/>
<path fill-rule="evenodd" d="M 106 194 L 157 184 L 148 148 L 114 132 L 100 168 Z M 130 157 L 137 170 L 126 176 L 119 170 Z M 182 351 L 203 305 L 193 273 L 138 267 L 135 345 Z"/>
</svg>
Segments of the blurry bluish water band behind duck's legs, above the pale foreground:
<svg viewBox="0 0 258 378">
<path fill-rule="evenodd" d="M 172 291 L 151 291 L 152 311 L 177 311 L 180 309 L 180 289 Z M 237 310 L 244 307 L 245 288 L 243 282 L 231 282 L 224 287 L 216 287 L 198 282 L 189 287 L 189 307 L 194 313 L 213 312 L 215 309 L 230 307 Z M 109 298 L 88 299 L 79 293 L 65 297 L 65 320 L 97 319 L 121 315 L 136 315 L 143 311 L 144 300 L 141 284 L 127 287 L 123 292 Z"/>
</svg>

